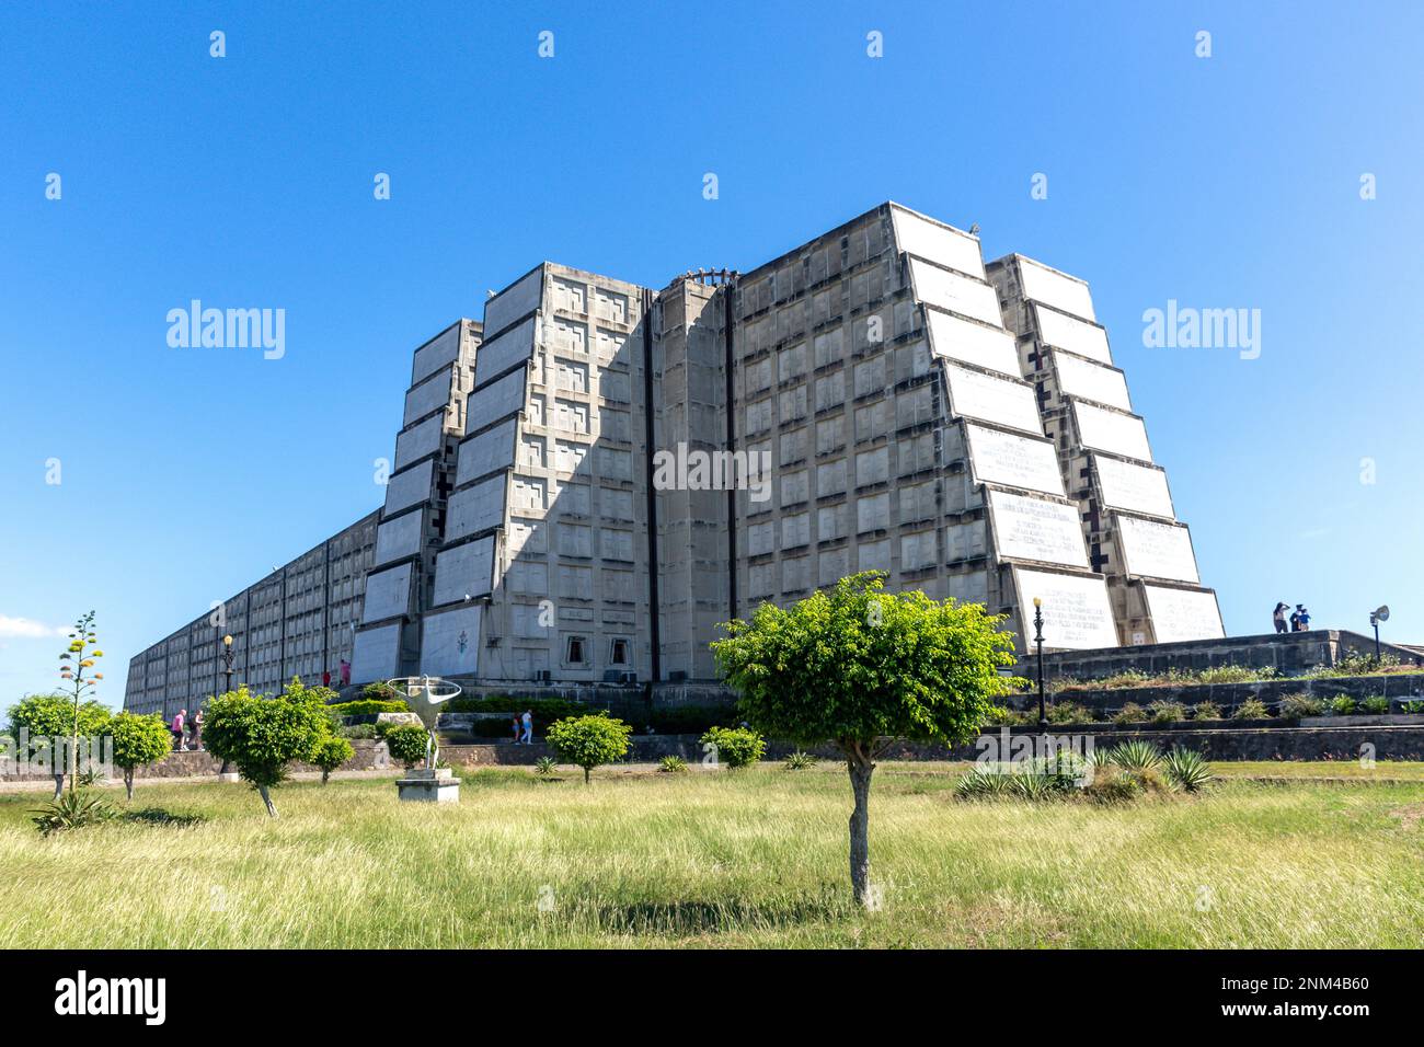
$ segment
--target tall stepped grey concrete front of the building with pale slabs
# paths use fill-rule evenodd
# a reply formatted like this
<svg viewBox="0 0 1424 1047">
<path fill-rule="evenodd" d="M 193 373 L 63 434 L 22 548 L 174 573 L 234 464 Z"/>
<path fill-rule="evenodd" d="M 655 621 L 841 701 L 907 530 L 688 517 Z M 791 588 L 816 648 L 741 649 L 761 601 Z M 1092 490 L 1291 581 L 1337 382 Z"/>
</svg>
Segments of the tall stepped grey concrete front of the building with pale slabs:
<svg viewBox="0 0 1424 1047">
<path fill-rule="evenodd" d="M 350 651 L 352 685 L 715 681 L 718 623 L 871 568 L 1007 614 L 1020 650 L 1034 597 L 1049 648 L 1220 635 L 1145 433 L 1096 434 L 1128 427 L 1087 285 L 985 266 L 975 236 L 896 204 L 661 291 L 544 262 L 416 350 L 386 504 L 357 524 L 350 647 L 328 630 L 326 668 L 273 654 L 273 628 L 310 632 L 282 571 L 245 594 L 239 679 Z M 1171 630 L 1161 591 L 1196 601 Z M 199 632 L 135 658 L 128 704 L 211 692 Z"/>
</svg>

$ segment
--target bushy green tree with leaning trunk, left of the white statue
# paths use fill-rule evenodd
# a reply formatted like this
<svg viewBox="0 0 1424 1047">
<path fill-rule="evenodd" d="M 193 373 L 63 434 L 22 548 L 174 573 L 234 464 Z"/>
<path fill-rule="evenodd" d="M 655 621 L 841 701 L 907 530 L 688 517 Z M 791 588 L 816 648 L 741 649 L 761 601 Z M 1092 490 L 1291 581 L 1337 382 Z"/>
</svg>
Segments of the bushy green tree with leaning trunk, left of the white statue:
<svg viewBox="0 0 1424 1047">
<path fill-rule="evenodd" d="M 288 764 L 309 761 L 330 736 L 330 718 L 310 701 L 253 695 L 246 687 L 214 698 L 202 728 L 208 749 L 229 761 L 276 818 L 271 789 L 286 781 Z"/>
</svg>

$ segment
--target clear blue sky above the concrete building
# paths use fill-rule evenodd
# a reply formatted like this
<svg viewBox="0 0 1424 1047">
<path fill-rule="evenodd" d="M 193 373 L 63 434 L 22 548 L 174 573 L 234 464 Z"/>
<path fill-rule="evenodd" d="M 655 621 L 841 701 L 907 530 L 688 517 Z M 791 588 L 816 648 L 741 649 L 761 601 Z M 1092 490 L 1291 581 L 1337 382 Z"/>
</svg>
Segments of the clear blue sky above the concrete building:
<svg viewBox="0 0 1424 1047">
<path fill-rule="evenodd" d="M 93 607 L 117 705 L 131 654 L 375 509 L 413 348 L 487 288 L 745 269 L 884 199 L 1091 282 L 1229 632 L 1387 601 L 1424 641 L 1421 30 L 1373 3 L 6 4 L 0 702 L 53 679 L 33 624 Z M 192 298 L 286 309 L 286 356 L 169 349 Z M 1260 309 L 1260 358 L 1143 348 L 1168 299 Z"/>
</svg>

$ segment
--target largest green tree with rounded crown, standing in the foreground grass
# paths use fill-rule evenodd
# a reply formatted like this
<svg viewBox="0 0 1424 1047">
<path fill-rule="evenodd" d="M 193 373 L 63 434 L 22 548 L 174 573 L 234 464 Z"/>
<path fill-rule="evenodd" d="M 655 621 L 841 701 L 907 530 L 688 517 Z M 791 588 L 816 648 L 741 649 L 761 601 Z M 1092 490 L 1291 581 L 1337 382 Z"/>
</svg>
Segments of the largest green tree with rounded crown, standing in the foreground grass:
<svg viewBox="0 0 1424 1047">
<path fill-rule="evenodd" d="M 725 625 L 712 651 L 742 715 L 766 735 L 833 742 L 846 758 L 850 883 L 870 903 L 870 775 L 896 739 L 967 742 L 1014 681 L 1012 634 L 980 604 L 884 593 L 879 571 L 842 578 L 790 608 Z"/>
</svg>

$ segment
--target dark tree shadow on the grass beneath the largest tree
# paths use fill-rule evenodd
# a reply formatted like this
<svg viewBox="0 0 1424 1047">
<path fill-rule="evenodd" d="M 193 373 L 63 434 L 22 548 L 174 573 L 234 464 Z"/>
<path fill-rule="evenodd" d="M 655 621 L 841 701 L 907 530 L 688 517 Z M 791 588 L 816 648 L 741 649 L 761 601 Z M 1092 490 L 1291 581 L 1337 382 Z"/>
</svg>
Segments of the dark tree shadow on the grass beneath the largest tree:
<svg viewBox="0 0 1424 1047">
<path fill-rule="evenodd" d="M 634 902 L 601 905 L 595 913 L 600 927 L 615 934 L 718 934 L 837 922 L 853 912 L 850 899 L 839 895 L 827 886 L 809 899 Z"/>
</svg>

